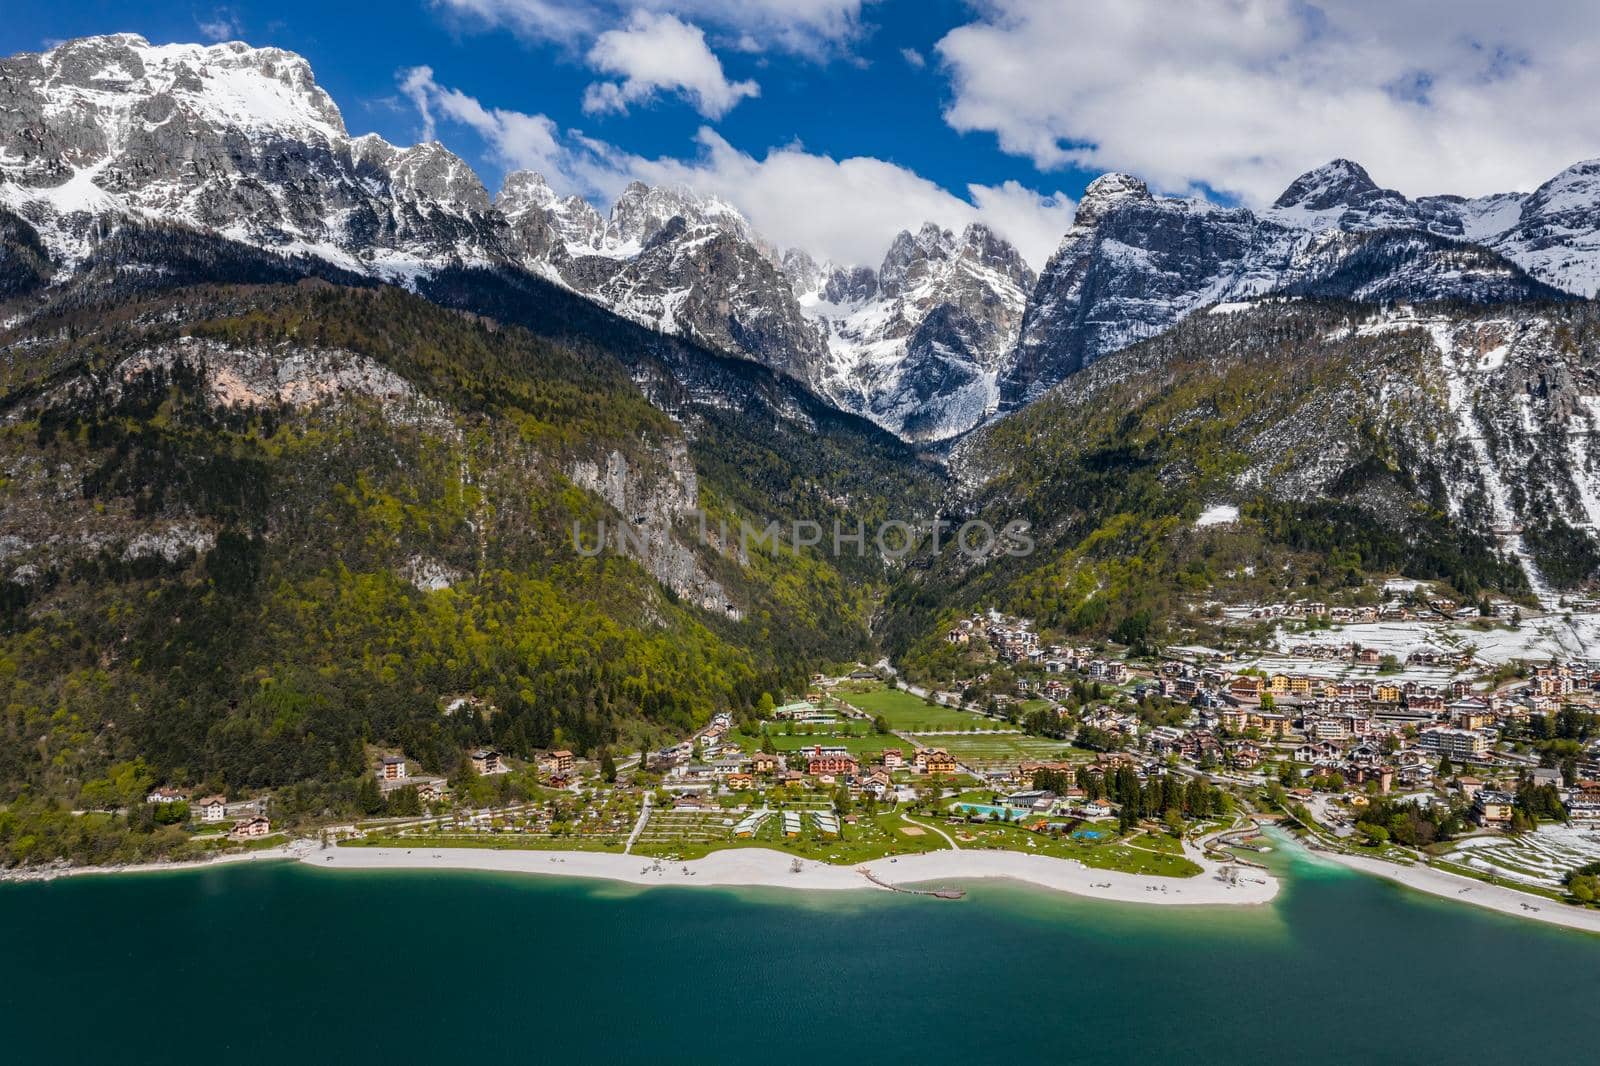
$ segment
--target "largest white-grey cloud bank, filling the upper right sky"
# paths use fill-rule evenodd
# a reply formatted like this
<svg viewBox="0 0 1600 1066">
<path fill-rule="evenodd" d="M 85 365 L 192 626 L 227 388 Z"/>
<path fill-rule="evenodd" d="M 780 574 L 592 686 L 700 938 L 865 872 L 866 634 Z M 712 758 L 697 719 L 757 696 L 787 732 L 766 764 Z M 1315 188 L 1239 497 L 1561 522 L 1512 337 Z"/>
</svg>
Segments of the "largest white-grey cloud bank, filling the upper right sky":
<svg viewBox="0 0 1600 1066">
<path fill-rule="evenodd" d="M 1261 203 L 1333 157 L 1408 194 L 1600 152 L 1590 0 L 989 0 L 938 45 L 946 120 L 1042 168 Z"/>
</svg>

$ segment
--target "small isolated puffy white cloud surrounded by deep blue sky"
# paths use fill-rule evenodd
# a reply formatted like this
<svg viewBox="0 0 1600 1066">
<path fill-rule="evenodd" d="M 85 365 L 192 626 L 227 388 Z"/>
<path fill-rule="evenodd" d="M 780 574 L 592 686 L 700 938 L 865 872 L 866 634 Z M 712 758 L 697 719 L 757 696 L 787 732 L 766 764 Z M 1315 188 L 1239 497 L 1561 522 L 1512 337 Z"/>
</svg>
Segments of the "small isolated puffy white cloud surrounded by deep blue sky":
<svg viewBox="0 0 1600 1066">
<path fill-rule="evenodd" d="M 670 14 L 635 11 L 627 29 L 595 38 L 589 66 L 622 77 L 595 82 L 584 91 L 584 110 L 590 114 L 627 110 L 664 90 L 690 98 L 704 117 L 722 118 L 741 99 L 760 93 L 755 82 L 730 82 L 706 46 L 706 34 Z"/>
</svg>

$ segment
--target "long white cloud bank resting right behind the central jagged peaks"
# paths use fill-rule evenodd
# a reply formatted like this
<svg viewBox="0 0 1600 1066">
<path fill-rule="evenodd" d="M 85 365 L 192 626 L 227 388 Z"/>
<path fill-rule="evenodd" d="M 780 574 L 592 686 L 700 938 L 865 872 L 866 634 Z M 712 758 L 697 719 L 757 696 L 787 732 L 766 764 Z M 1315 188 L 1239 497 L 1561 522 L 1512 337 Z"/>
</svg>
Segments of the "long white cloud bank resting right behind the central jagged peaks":
<svg viewBox="0 0 1600 1066">
<path fill-rule="evenodd" d="M 688 158 L 646 158 L 546 115 L 491 109 L 442 86 L 427 67 L 402 72 L 402 91 L 416 104 L 422 136 L 443 123 L 474 130 L 509 168 L 536 170 L 558 192 L 606 202 L 629 181 L 688 186 L 733 203 L 757 232 L 781 248 L 818 259 L 877 266 L 902 229 L 923 222 L 960 229 L 984 222 L 1038 269 L 1072 221 L 1072 200 L 1040 195 L 1014 181 L 968 186 L 962 198 L 896 163 L 872 157 L 832 158 L 803 147 L 774 147 L 757 158 L 710 128 Z"/>
</svg>

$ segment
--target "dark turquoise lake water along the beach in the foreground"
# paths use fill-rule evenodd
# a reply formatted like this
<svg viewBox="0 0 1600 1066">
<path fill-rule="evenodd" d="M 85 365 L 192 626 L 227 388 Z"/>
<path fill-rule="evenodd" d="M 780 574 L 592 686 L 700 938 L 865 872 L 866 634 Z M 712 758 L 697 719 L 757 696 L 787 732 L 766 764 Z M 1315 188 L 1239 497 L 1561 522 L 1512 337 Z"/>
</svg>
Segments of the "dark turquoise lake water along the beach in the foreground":
<svg viewBox="0 0 1600 1066">
<path fill-rule="evenodd" d="M 288 863 L 0 885 L 0 1047 L 11 1063 L 1592 1053 L 1600 938 L 1275 863 L 1285 892 L 1250 909 Z"/>
</svg>

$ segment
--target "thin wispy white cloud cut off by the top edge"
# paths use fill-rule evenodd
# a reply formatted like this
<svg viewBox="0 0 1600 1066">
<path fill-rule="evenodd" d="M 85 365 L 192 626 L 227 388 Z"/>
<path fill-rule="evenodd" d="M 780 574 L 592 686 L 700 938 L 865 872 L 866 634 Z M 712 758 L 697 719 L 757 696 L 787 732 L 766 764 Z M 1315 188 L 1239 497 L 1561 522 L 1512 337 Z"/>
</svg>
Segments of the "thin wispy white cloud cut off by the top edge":
<svg viewBox="0 0 1600 1066">
<path fill-rule="evenodd" d="M 568 45 L 635 11 L 672 14 L 714 27 L 741 51 L 824 58 L 861 32 L 864 2 L 872 0 L 434 0 L 434 6 L 478 26 Z"/>
</svg>

